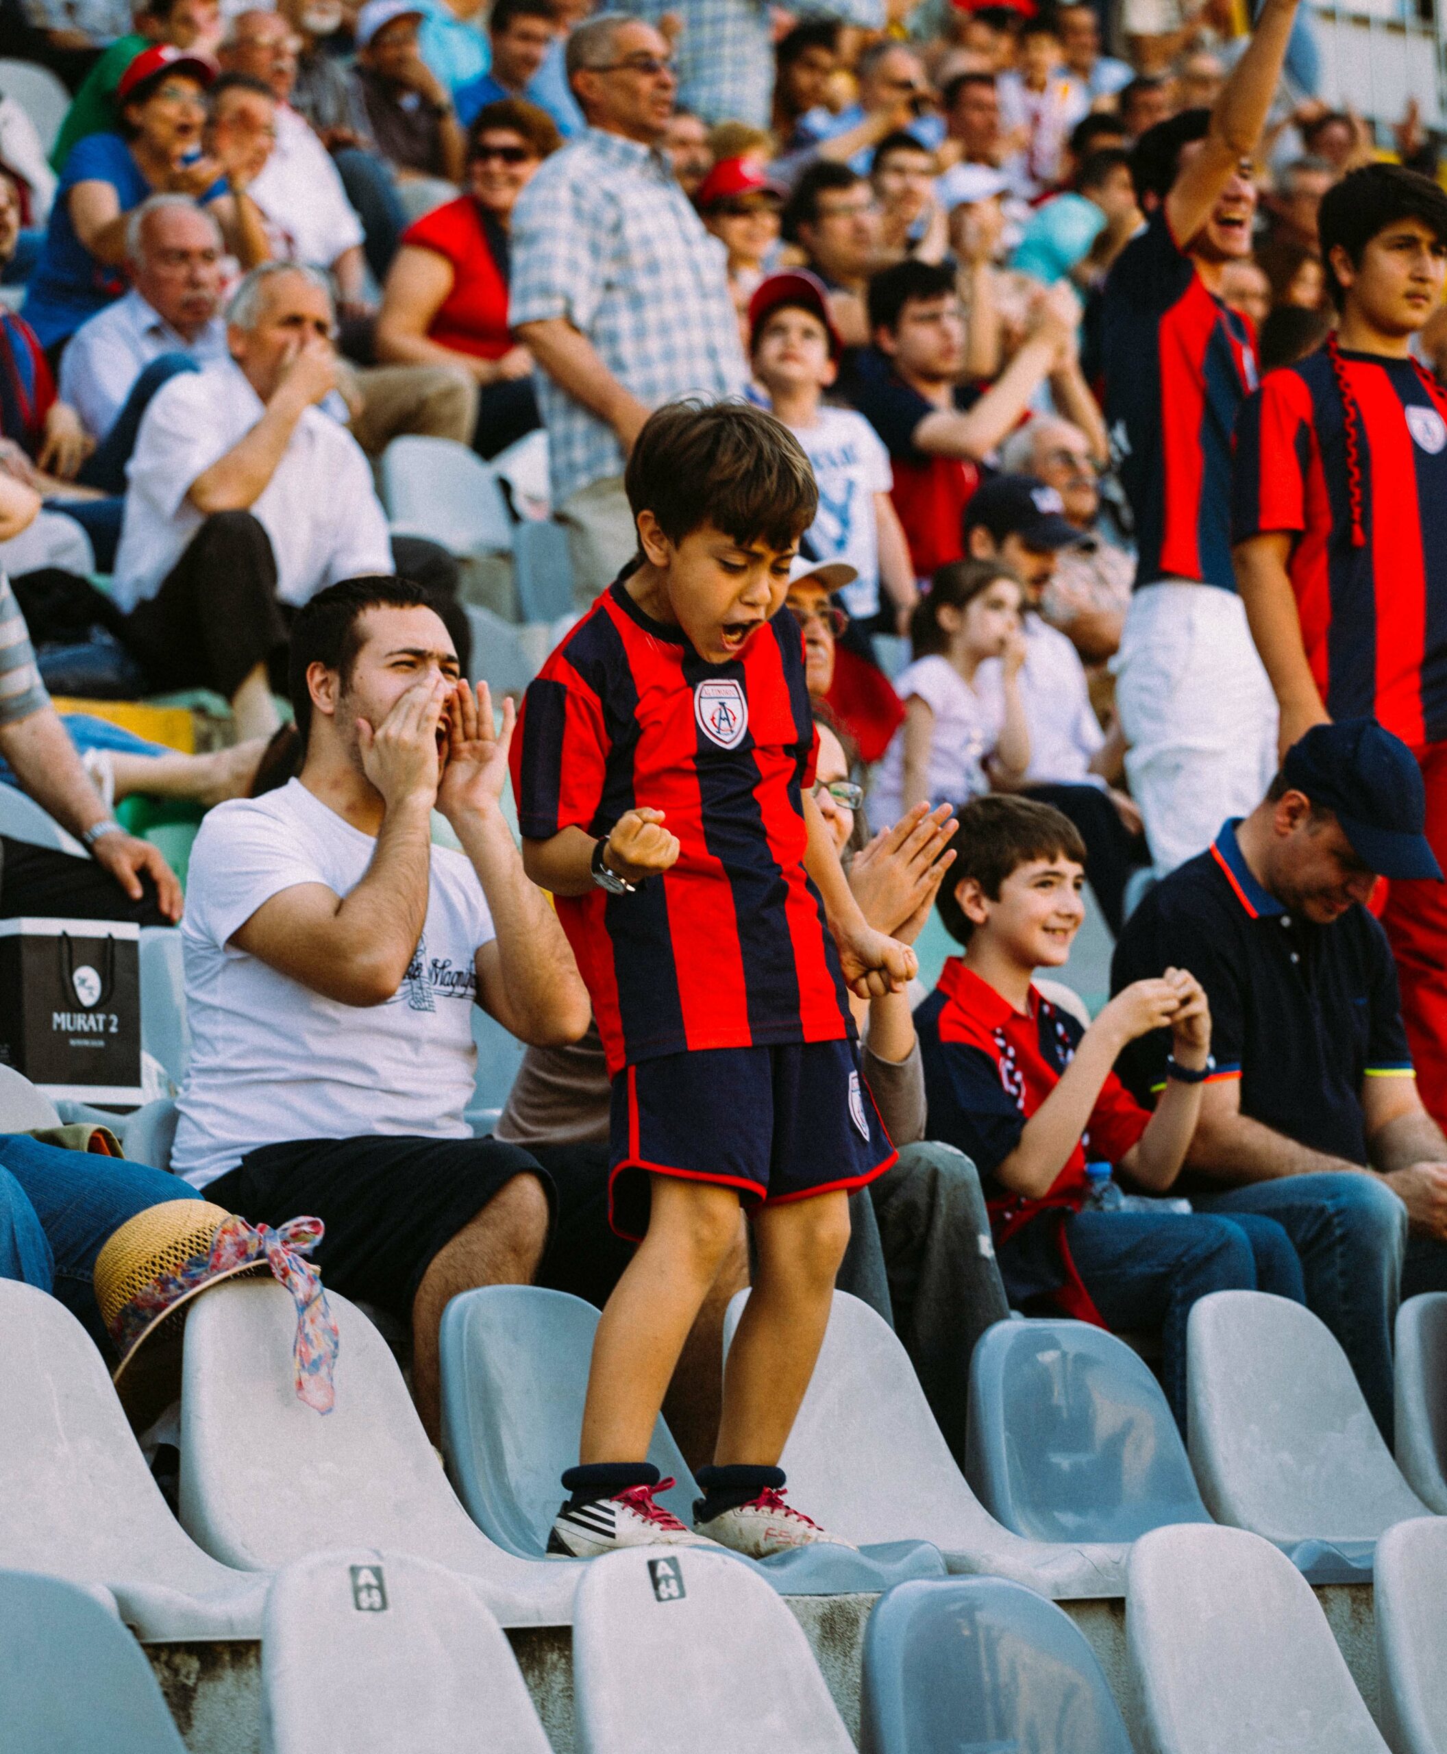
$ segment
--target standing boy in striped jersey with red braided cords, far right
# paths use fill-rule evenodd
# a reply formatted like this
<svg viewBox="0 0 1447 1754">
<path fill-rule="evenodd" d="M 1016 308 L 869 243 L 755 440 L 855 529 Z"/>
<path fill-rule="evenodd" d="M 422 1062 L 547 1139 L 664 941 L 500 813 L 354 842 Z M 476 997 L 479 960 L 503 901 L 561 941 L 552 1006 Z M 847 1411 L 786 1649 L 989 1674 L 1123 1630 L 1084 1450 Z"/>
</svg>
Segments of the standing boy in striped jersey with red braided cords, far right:
<svg viewBox="0 0 1447 1754">
<path fill-rule="evenodd" d="M 1447 195 L 1401 165 L 1354 170 L 1321 203 L 1321 254 L 1337 330 L 1237 423 L 1237 577 L 1282 751 L 1375 717 L 1417 756 L 1447 863 L 1447 395 L 1410 353 L 1447 282 Z M 1382 924 L 1422 1100 L 1447 1121 L 1447 889 L 1394 881 Z"/>
</svg>

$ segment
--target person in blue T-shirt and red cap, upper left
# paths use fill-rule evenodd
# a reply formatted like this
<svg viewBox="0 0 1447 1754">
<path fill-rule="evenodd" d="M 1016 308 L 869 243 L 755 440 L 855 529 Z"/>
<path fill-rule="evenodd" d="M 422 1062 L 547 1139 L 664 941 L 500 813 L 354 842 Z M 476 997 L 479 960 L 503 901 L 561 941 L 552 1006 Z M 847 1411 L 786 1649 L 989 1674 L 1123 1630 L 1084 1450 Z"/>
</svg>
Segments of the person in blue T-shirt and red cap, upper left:
<svg viewBox="0 0 1447 1754">
<path fill-rule="evenodd" d="M 244 177 L 242 158 L 219 156 L 219 142 L 198 154 L 210 79 L 209 61 L 168 44 L 146 49 L 116 91 L 121 132 L 88 135 L 65 161 L 25 295 L 26 319 L 53 356 L 125 291 L 126 221 L 147 195 L 193 195 L 214 209 L 228 249 L 244 267 L 253 263 L 247 219 L 254 210 L 247 212 L 246 195 L 232 184 Z"/>
</svg>

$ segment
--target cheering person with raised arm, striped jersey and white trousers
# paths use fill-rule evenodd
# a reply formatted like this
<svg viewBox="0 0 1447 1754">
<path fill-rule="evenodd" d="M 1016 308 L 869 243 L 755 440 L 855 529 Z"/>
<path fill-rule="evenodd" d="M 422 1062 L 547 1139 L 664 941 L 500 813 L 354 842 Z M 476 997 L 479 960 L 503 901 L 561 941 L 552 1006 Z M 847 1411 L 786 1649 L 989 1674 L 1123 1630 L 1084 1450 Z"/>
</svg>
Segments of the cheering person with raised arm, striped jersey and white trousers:
<svg viewBox="0 0 1447 1754">
<path fill-rule="evenodd" d="M 1140 551 L 1116 705 L 1159 875 L 1254 809 L 1275 766 L 1275 702 L 1231 574 L 1231 428 L 1256 388 L 1254 335 L 1221 277 L 1251 254 L 1251 156 L 1294 16 L 1296 0 L 1265 0 L 1215 107 L 1140 135 L 1147 223 L 1105 281 L 1105 419 Z"/>
</svg>

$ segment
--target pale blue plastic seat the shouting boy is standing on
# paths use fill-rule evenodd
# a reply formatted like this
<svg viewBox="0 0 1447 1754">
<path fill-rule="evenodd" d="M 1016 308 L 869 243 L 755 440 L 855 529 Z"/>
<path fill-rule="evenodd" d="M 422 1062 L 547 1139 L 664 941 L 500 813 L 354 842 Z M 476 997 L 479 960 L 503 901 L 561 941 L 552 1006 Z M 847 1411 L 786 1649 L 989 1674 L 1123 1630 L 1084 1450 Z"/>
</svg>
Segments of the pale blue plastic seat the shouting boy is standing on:
<svg viewBox="0 0 1447 1754">
<path fill-rule="evenodd" d="M 563 1496 L 558 1477 L 577 1461 L 596 1330 L 591 1303 L 533 1286 L 465 1291 L 442 1317 L 447 1465 L 479 1528 L 523 1558 L 542 1558 Z M 679 1482 L 661 1501 L 693 1522 L 698 1484 L 663 1419 L 649 1461 Z M 873 1594 L 907 1577 L 944 1577 L 944 1561 L 924 1542 L 863 1554 L 819 1544 L 761 1570 L 788 1596 Z"/>
</svg>

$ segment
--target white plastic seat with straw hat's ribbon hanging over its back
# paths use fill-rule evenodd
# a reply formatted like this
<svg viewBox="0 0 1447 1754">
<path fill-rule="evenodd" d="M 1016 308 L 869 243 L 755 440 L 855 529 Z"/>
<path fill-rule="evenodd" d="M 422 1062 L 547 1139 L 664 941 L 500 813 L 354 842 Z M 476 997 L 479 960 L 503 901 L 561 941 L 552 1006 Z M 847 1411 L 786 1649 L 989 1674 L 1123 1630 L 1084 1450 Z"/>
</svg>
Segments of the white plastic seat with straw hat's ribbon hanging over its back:
<svg viewBox="0 0 1447 1754">
<path fill-rule="evenodd" d="M 460 1572 L 503 1626 L 565 1626 L 581 1559 L 519 1559 L 458 1503 L 386 1342 L 328 1291 L 337 1405 L 293 1389 L 296 1314 L 275 1282 L 217 1286 L 186 1323 L 181 1521 L 226 1565 L 275 1572 L 333 1547 L 395 1547 Z"/>
</svg>

